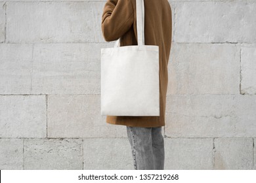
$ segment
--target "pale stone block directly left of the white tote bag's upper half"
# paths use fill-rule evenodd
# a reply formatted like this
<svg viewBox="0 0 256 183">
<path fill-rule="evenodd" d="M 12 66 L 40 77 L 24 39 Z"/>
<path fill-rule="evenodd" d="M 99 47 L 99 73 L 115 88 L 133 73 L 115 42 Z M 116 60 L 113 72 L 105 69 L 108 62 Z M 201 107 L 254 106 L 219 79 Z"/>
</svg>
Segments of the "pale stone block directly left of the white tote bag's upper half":
<svg viewBox="0 0 256 183">
<path fill-rule="evenodd" d="M 32 93 L 99 94 L 100 48 L 106 44 L 35 44 Z"/>
</svg>

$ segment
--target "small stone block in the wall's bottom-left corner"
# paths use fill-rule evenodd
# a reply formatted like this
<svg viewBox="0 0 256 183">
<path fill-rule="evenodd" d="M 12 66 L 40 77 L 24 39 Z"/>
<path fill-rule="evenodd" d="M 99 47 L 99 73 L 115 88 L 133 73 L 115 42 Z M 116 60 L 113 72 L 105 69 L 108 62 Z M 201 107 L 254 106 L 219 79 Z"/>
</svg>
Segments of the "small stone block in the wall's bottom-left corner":
<svg viewBox="0 0 256 183">
<path fill-rule="evenodd" d="M 23 163 L 23 139 L 0 139 L 0 169 L 22 170 Z"/>
</svg>

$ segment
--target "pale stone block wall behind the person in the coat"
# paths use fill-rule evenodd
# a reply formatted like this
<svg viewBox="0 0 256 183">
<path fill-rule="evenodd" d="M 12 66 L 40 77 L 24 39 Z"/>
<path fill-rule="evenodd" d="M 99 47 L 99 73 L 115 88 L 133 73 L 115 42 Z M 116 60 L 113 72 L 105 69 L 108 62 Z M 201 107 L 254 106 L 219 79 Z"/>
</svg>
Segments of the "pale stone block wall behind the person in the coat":
<svg viewBox="0 0 256 183">
<path fill-rule="evenodd" d="M 0 169 L 133 169 L 100 115 L 105 2 L 0 0 Z M 256 169 L 256 1 L 169 3 L 165 169 Z"/>
</svg>

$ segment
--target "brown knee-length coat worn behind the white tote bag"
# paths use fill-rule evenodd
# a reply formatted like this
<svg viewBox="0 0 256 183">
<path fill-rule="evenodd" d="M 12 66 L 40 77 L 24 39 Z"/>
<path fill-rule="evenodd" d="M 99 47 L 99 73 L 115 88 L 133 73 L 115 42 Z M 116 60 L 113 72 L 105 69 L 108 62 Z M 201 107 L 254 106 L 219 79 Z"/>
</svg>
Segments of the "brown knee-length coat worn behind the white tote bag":
<svg viewBox="0 0 256 183">
<path fill-rule="evenodd" d="M 167 65 L 171 51 L 172 12 L 167 0 L 144 0 L 146 45 L 158 45 L 160 53 L 160 116 L 106 116 L 108 124 L 133 127 L 165 125 L 168 84 Z M 108 0 L 102 14 L 102 35 L 106 41 L 120 39 L 120 46 L 137 45 L 136 0 Z"/>
</svg>

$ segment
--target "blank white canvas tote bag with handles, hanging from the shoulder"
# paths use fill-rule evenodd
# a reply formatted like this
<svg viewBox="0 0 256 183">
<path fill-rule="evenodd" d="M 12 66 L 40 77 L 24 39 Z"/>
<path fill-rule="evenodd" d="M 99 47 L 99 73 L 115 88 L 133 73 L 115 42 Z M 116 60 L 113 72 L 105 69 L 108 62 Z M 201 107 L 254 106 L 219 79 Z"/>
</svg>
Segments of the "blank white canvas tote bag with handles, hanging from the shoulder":
<svg viewBox="0 0 256 183">
<path fill-rule="evenodd" d="M 144 1 L 136 1 L 138 45 L 101 49 L 101 115 L 160 116 L 159 46 L 144 45 Z"/>
</svg>

